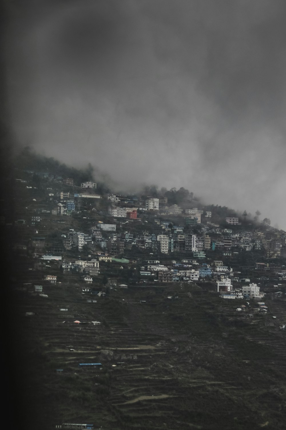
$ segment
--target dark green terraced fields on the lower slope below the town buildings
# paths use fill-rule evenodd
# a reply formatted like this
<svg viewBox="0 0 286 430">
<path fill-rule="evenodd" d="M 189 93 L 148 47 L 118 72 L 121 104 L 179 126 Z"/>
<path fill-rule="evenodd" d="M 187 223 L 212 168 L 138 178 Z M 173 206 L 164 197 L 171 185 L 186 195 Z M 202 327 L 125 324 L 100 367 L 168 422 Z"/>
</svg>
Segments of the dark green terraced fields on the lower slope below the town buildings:
<svg viewBox="0 0 286 430">
<path fill-rule="evenodd" d="M 76 284 L 45 293 L 15 291 L 12 299 L 27 428 L 285 428 L 285 301 L 271 302 L 274 320 L 247 319 L 186 284 L 111 291 L 92 296 L 96 303 Z"/>
</svg>

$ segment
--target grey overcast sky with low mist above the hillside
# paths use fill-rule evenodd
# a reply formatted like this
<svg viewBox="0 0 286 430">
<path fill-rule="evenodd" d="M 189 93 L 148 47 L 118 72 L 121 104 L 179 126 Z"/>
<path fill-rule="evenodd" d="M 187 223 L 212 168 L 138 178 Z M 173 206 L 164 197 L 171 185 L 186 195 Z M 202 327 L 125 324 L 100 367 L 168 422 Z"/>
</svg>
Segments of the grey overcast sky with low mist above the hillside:
<svg viewBox="0 0 286 430">
<path fill-rule="evenodd" d="M 18 142 L 286 230 L 285 0 L 6 3 Z"/>
</svg>

